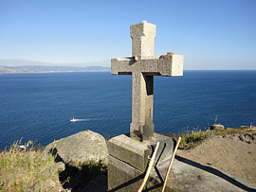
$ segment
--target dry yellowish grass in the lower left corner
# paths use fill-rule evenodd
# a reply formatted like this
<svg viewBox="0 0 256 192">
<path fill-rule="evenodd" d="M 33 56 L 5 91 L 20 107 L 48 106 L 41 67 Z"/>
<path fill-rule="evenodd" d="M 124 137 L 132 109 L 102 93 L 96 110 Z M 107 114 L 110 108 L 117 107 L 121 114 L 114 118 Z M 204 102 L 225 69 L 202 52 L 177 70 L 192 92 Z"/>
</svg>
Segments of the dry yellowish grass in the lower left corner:
<svg viewBox="0 0 256 192">
<path fill-rule="evenodd" d="M 53 191 L 50 183 L 59 177 L 46 170 L 54 165 L 54 157 L 42 160 L 42 150 L 35 149 L 33 142 L 24 148 L 20 144 L 21 140 L 14 142 L 0 153 L 0 191 Z"/>
</svg>

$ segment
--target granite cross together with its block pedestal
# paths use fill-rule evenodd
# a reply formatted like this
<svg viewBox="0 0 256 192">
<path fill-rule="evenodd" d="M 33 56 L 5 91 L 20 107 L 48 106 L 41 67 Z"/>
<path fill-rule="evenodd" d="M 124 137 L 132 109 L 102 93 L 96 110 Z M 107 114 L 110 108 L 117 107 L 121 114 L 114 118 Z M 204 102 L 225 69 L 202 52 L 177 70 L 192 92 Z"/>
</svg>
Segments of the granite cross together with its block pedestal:
<svg viewBox="0 0 256 192">
<path fill-rule="evenodd" d="M 154 76 L 183 75 L 183 56 L 154 56 L 155 25 L 145 21 L 132 25 L 131 37 L 133 58 L 111 60 L 112 74 L 132 75 L 133 80 L 131 138 L 119 135 L 108 142 L 108 187 L 113 191 L 137 191 L 149 162 L 148 157 L 152 156 L 157 142 L 160 145 L 155 168 L 170 162 L 173 139 L 154 133 Z M 159 181 L 151 178 L 147 189 L 153 186 L 150 191 L 159 191 L 159 184 Z"/>
</svg>

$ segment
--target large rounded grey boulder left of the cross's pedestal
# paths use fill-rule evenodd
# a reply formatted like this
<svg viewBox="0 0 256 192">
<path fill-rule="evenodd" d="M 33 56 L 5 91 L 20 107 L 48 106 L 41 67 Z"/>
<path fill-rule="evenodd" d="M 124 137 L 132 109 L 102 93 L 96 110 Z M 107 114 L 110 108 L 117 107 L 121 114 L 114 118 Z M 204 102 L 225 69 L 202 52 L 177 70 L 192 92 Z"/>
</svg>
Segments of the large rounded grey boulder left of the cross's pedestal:
<svg viewBox="0 0 256 192">
<path fill-rule="evenodd" d="M 87 161 L 106 163 L 108 155 L 104 137 L 93 131 L 81 131 L 49 144 L 43 157 L 46 158 L 48 152 L 56 154 L 65 164 Z"/>
</svg>

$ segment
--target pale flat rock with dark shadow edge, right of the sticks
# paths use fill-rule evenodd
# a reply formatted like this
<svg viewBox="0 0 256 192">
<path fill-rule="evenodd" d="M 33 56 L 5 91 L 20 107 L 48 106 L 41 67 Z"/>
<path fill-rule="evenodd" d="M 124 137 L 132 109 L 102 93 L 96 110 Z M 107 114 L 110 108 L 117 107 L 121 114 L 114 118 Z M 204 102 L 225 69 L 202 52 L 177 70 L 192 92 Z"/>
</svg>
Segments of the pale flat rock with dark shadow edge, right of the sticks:
<svg viewBox="0 0 256 192">
<path fill-rule="evenodd" d="M 159 169 L 164 171 L 165 168 Z M 168 185 L 173 191 L 255 191 L 256 188 L 256 183 L 179 156 L 174 159 Z"/>
</svg>

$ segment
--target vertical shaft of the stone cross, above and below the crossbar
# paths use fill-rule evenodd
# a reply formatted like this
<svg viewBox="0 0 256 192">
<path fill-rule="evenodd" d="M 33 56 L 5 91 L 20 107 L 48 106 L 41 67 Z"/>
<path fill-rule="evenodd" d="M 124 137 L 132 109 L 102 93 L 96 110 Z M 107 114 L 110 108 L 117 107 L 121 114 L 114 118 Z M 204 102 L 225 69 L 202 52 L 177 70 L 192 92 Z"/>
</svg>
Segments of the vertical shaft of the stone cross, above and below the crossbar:
<svg viewBox="0 0 256 192">
<path fill-rule="evenodd" d="M 154 24 L 145 21 L 130 27 L 133 57 L 154 56 L 155 28 Z M 130 135 L 139 140 L 149 139 L 154 133 L 154 77 L 146 76 L 140 70 L 133 71 L 132 75 L 133 113 Z"/>
</svg>

